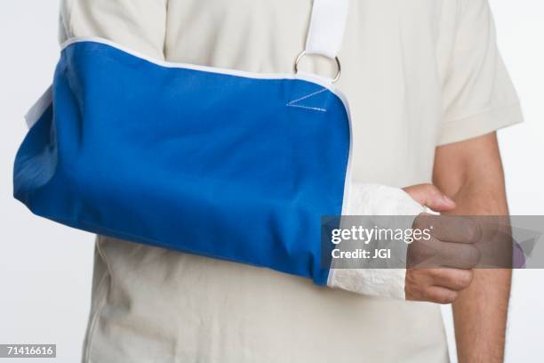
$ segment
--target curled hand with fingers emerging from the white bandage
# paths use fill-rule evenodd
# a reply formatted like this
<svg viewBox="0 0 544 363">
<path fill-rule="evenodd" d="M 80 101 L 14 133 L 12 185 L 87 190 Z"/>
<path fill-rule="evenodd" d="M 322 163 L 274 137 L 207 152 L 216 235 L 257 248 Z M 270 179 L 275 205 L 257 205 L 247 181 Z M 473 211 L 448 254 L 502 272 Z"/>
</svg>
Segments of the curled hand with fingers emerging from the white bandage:
<svg viewBox="0 0 544 363">
<path fill-rule="evenodd" d="M 436 212 L 455 208 L 452 199 L 434 185 L 415 185 L 404 191 Z M 431 238 L 414 240 L 408 247 L 406 300 L 452 303 L 472 281 L 471 268 L 479 258 L 473 244 L 480 239 L 481 231 L 468 219 L 429 214 L 420 214 L 413 228 L 430 230 Z"/>
</svg>

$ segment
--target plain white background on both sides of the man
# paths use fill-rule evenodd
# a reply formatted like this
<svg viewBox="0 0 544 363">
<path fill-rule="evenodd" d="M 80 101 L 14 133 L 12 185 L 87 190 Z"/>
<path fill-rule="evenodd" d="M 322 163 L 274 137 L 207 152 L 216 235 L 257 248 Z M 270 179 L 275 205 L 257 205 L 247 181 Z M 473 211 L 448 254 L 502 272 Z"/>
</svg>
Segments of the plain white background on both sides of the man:
<svg viewBox="0 0 544 363">
<path fill-rule="evenodd" d="M 500 49 L 526 119 L 523 125 L 500 133 L 510 211 L 541 215 L 544 3 L 490 1 Z M 0 4 L 0 343 L 57 343 L 54 361 L 72 363 L 80 360 L 89 311 L 93 238 L 37 218 L 12 199 L 12 160 L 27 131 L 22 115 L 51 83 L 58 59 L 58 3 L 4 0 Z M 507 362 L 542 362 L 544 270 L 516 271 L 514 278 Z M 451 336 L 448 308 L 444 317 Z"/>
</svg>

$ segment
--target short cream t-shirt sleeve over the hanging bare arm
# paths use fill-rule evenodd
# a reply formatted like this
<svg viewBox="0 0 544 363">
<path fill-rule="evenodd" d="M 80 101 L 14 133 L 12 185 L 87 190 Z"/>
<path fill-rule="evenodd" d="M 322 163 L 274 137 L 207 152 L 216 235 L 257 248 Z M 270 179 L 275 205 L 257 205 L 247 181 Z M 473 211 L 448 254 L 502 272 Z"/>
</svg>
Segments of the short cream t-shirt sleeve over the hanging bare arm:
<svg viewBox="0 0 544 363">
<path fill-rule="evenodd" d="M 497 47 L 488 0 L 460 0 L 456 37 L 444 76 L 444 118 L 437 145 L 523 121 L 516 90 Z"/>
</svg>

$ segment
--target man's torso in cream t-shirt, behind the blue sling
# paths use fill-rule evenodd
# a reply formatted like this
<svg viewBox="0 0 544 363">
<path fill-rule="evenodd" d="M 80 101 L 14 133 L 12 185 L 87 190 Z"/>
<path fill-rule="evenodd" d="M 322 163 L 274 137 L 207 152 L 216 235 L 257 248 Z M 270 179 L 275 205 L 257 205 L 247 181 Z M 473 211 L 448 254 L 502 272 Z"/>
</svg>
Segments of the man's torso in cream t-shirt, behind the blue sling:
<svg viewBox="0 0 544 363">
<path fill-rule="evenodd" d="M 156 4 L 145 11 L 146 1 L 68 0 L 66 36 L 108 37 L 170 61 L 285 73 L 311 12 L 310 0 L 157 0 L 163 16 Z M 455 0 L 351 2 L 339 87 L 350 103 L 356 181 L 430 181 L 456 13 Z M 139 21 L 164 27 L 146 38 L 129 31 Z M 164 44 L 149 46 L 163 29 Z M 304 67 L 327 75 L 329 63 Z M 86 349 L 100 362 L 447 360 L 437 305 L 111 238 L 97 243 Z"/>
</svg>

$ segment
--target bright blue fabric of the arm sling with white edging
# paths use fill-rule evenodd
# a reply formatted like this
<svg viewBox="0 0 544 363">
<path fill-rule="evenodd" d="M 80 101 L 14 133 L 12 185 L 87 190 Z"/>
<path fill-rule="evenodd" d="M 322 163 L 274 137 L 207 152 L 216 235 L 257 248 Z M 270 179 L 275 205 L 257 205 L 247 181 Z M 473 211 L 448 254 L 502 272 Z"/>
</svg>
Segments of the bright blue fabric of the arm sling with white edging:
<svg viewBox="0 0 544 363">
<path fill-rule="evenodd" d="M 77 229 L 323 285 L 320 218 L 341 214 L 349 142 L 345 106 L 321 85 L 79 42 L 20 146 L 14 196 Z"/>
</svg>

